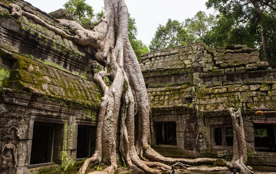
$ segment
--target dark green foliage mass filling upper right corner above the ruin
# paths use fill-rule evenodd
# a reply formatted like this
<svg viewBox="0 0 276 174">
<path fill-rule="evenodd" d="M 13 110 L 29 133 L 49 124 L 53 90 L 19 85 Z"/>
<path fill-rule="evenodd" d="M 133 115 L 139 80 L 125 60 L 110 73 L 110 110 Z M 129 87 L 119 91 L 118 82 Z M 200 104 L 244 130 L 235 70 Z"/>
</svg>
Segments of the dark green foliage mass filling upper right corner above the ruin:
<svg viewBox="0 0 276 174">
<path fill-rule="evenodd" d="M 203 37 L 203 42 L 210 45 L 213 43 L 215 46 L 245 44 L 258 50 L 260 58 L 266 58 L 272 63 L 271 66 L 276 67 L 275 1 L 208 0 L 206 6 L 213 7 L 219 15 L 211 31 Z M 257 10 L 260 13 L 257 13 Z M 268 49 L 266 57 L 264 49 Z"/>
</svg>

